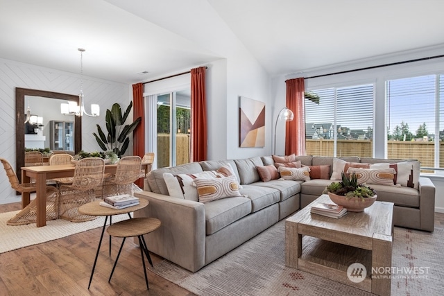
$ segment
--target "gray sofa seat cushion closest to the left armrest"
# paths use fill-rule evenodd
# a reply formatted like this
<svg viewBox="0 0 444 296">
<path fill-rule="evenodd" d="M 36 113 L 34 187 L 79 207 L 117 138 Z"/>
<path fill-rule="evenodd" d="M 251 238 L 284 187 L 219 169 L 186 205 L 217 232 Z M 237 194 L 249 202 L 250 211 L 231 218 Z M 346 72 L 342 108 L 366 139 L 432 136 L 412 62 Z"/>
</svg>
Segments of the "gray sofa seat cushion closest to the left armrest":
<svg viewBox="0 0 444 296">
<path fill-rule="evenodd" d="M 251 213 L 248 198 L 223 198 L 205 203 L 205 231 L 214 234 L 223 227 Z"/>
</svg>

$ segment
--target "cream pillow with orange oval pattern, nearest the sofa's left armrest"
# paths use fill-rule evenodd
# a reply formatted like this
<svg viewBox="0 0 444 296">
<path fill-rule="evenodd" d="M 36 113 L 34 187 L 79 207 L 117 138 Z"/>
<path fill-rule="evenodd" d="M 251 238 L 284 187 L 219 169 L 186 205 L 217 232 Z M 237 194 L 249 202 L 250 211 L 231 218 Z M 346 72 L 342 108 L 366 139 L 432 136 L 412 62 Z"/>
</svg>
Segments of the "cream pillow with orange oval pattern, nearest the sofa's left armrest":
<svg viewBox="0 0 444 296">
<path fill-rule="evenodd" d="M 236 177 L 222 177 L 211 180 L 196 179 L 199 202 L 211 202 L 221 198 L 234 198 L 242 196 L 239 193 L 239 183 Z"/>
</svg>

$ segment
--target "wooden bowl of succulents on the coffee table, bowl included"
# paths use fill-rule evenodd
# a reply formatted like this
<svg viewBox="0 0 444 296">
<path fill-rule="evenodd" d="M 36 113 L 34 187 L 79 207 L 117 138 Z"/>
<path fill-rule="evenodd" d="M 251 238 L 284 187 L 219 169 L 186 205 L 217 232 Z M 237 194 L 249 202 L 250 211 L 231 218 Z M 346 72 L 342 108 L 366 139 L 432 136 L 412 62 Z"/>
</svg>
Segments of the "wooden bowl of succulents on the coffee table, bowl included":
<svg viewBox="0 0 444 296">
<path fill-rule="evenodd" d="M 341 182 L 332 182 L 323 191 L 323 194 L 328 194 L 332 202 L 345 207 L 348 211 L 364 211 L 375 202 L 377 198 L 375 189 L 366 184 L 359 184 L 355 173 L 345 175 L 342 172 L 341 177 Z"/>
</svg>

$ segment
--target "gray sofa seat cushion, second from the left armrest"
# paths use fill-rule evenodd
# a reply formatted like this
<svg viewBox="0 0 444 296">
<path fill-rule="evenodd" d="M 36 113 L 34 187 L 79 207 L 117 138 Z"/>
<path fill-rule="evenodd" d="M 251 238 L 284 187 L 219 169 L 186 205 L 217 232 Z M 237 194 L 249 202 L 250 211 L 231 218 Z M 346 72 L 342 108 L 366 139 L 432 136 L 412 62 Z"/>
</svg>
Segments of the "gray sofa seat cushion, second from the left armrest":
<svg viewBox="0 0 444 296">
<path fill-rule="evenodd" d="M 276 182 L 276 180 L 272 180 L 267 182 L 266 184 L 270 184 Z M 244 185 L 239 192 L 242 195 L 245 195 L 247 198 L 251 200 L 251 212 L 259 211 L 264 209 L 271 204 L 275 204 L 280 201 L 281 194 L 277 189 L 273 189 L 273 186 L 260 186 L 260 184 L 264 184 L 263 182 L 256 182 L 249 185 Z"/>
</svg>

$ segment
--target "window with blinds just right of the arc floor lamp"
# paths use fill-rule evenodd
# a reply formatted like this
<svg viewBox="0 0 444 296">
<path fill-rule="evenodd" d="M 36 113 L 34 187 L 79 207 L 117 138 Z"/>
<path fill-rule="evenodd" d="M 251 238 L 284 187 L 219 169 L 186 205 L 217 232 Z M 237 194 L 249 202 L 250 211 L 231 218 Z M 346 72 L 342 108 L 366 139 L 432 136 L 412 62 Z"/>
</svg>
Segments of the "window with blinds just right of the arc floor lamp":
<svg viewBox="0 0 444 296">
<path fill-rule="evenodd" d="M 305 99 L 307 155 L 373 155 L 374 86 L 357 85 L 309 92 Z"/>
</svg>

